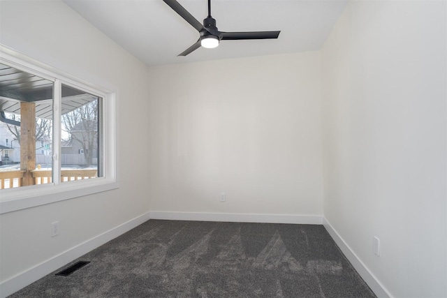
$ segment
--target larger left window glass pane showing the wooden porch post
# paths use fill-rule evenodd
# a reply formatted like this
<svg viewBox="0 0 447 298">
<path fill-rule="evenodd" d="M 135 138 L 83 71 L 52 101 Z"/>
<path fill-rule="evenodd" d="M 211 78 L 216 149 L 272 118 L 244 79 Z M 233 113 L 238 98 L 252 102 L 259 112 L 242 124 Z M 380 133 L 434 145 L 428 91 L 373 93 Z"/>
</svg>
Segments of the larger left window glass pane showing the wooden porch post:
<svg viewBox="0 0 447 298">
<path fill-rule="evenodd" d="M 0 64 L 0 188 L 52 182 L 53 88 Z"/>
</svg>

